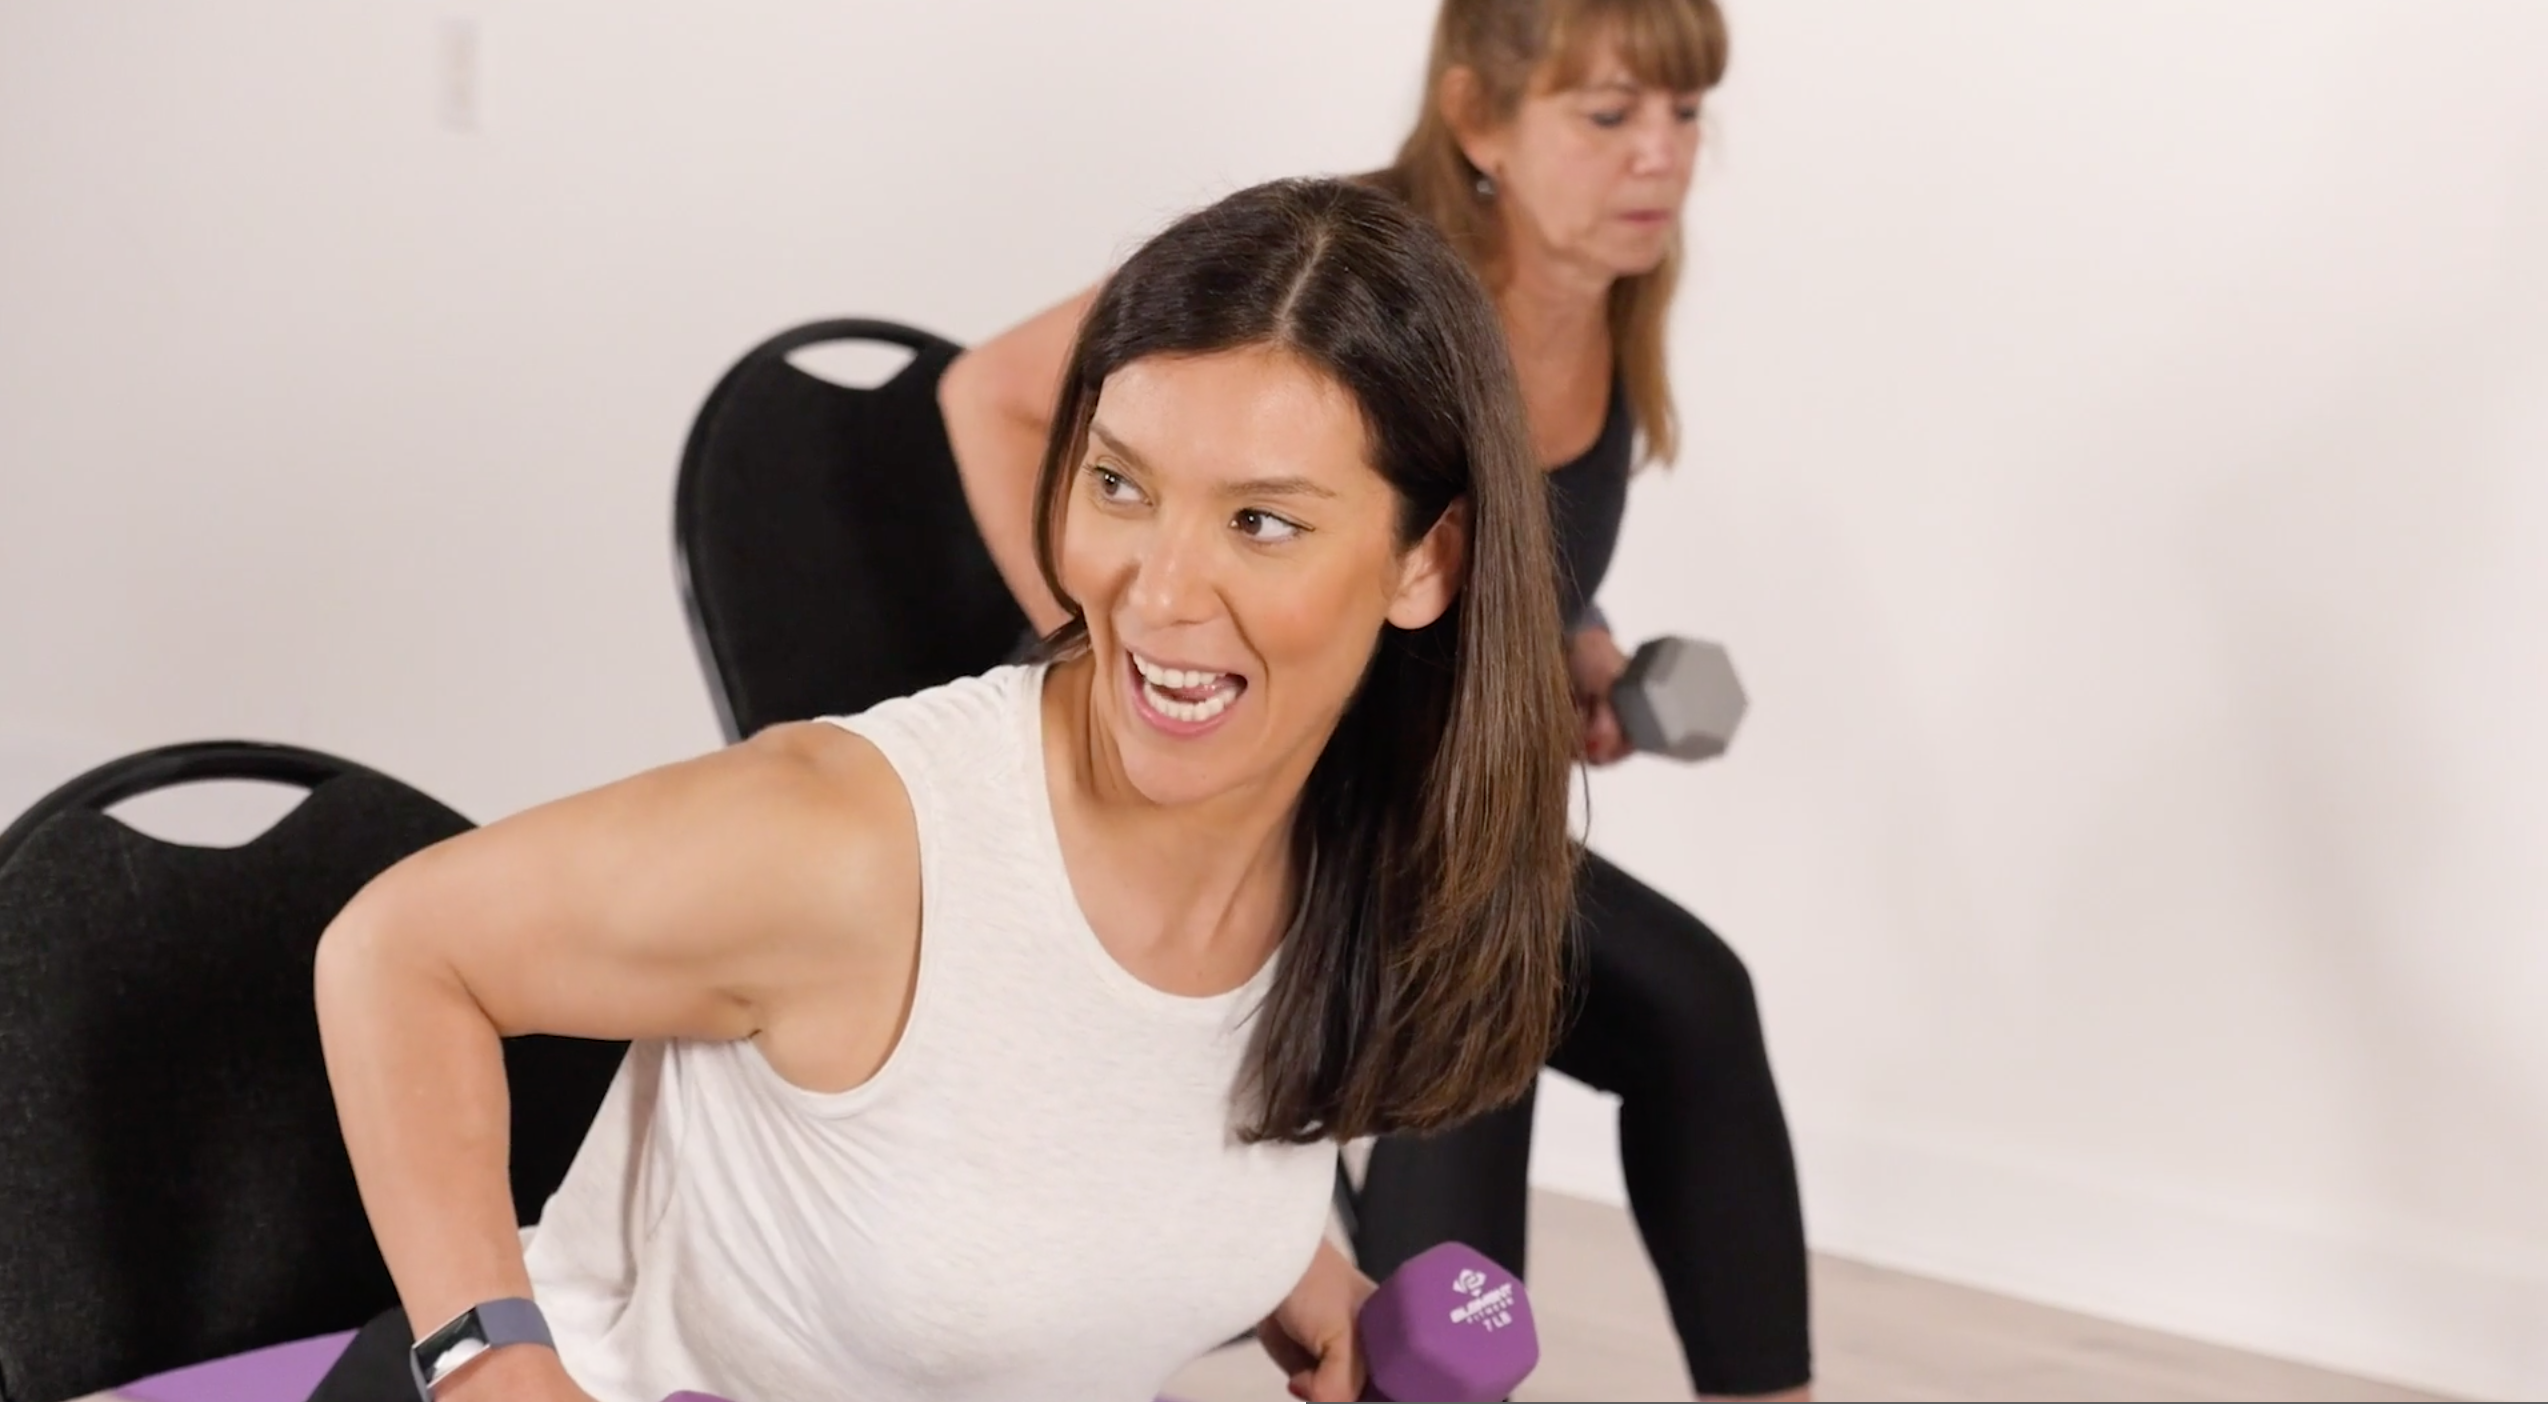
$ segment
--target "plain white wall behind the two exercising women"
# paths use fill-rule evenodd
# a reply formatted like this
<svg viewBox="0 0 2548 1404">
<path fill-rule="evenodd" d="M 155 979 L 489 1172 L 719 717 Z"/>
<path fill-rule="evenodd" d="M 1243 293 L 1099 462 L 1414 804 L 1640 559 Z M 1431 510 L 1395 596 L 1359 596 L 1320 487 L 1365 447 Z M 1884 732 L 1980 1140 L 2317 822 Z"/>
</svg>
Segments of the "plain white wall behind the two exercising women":
<svg viewBox="0 0 2548 1404">
<path fill-rule="evenodd" d="M 474 20 L 474 130 L 443 76 Z M 1819 1246 L 2548 1391 L 2548 5 L 1738 5 L 1595 838 L 1750 958 Z M 673 459 L 1386 155 L 1427 5 L 0 8 L 0 810 L 252 734 L 713 744 Z M 1615 1195 L 1598 1098 L 1539 1177 Z"/>
</svg>

